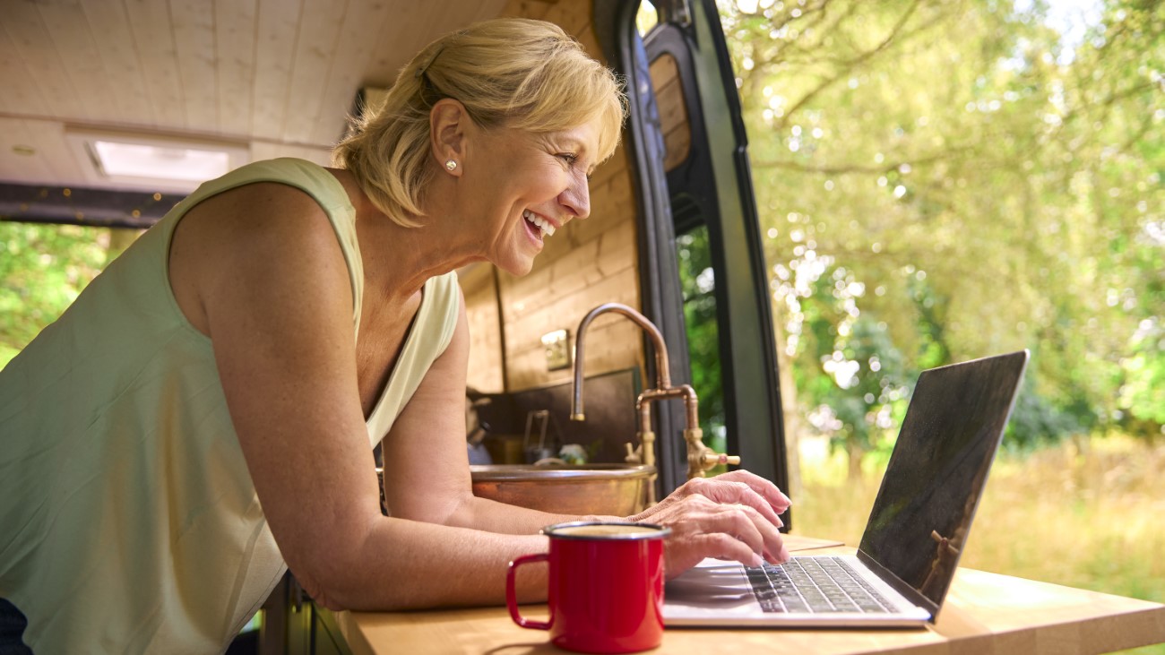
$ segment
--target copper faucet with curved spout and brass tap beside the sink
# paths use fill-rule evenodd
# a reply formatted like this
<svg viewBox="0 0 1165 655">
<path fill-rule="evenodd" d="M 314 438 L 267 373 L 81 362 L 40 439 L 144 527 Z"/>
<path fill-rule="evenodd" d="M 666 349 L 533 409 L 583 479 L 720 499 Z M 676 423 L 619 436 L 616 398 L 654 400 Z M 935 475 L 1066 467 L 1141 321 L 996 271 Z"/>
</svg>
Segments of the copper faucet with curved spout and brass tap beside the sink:
<svg viewBox="0 0 1165 655">
<path fill-rule="evenodd" d="M 720 464 L 740 464 L 740 457 L 721 455 L 704 445 L 704 431 L 700 430 L 699 399 L 691 385 L 671 385 L 671 371 L 668 366 L 668 345 L 663 334 L 654 323 L 634 309 L 619 303 L 606 303 L 592 309 L 579 323 L 574 337 L 574 383 L 571 397 L 571 421 L 584 421 L 582 413 L 582 359 L 586 329 L 600 314 L 614 311 L 630 318 L 651 338 L 656 358 L 656 386 L 644 389 L 635 400 L 635 410 L 640 415 L 640 445 L 631 449 L 627 444 L 627 462 L 655 466 L 655 432 L 651 431 L 651 403 L 671 397 L 684 399 L 684 442 L 687 444 L 687 479 L 702 478 L 707 471 Z M 648 502 L 655 502 L 655 485 L 648 487 Z"/>
</svg>

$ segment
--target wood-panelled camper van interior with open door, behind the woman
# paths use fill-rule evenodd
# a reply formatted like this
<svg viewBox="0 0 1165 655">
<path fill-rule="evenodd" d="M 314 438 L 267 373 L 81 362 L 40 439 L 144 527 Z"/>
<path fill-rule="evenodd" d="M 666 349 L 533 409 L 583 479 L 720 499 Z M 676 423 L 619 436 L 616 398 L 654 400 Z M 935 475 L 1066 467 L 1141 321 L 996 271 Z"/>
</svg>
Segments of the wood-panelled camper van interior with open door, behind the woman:
<svg viewBox="0 0 1165 655">
<path fill-rule="evenodd" d="M 662 369 L 673 387 L 693 379 L 677 241 L 699 234 L 715 304 L 704 328 L 719 364 L 716 388 L 694 388 L 700 409 L 716 408 L 705 442 L 788 487 L 748 141 L 714 0 L 75 0 L 6 2 L 3 14 L 0 219 L 132 230 L 214 167 L 329 164 L 352 117 L 450 30 L 497 16 L 562 26 L 626 79 L 629 112 L 619 150 L 593 176 L 588 220 L 548 239 L 524 277 L 489 265 L 459 272 L 468 386 L 485 399 L 474 404 L 490 460 L 521 463 L 534 436 L 580 444 L 592 463 L 624 460 L 637 445 L 637 395 Z M 118 150 L 162 162 L 120 168 L 107 159 Z M 179 162 L 177 177 L 157 176 L 165 159 Z M 607 311 L 576 361 L 581 321 L 607 303 L 640 312 L 662 340 Z M 584 422 L 570 420 L 576 371 Z M 650 403 L 657 498 L 687 479 L 691 409 L 675 396 Z M 346 649 L 294 582 L 264 621 L 263 652 Z"/>
</svg>

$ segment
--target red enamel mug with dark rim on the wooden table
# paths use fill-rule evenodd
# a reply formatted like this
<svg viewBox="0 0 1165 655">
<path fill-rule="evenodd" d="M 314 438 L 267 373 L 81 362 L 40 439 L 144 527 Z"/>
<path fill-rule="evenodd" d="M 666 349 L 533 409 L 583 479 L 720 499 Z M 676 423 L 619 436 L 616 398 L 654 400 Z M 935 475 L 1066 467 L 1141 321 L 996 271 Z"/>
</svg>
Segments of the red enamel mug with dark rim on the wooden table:
<svg viewBox="0 0 1165 655">
<path fill-rule="evenodd" d="M 510 562 L 506 603 L 514 622 L 550 631 L 550 641 L 579 653 L 636 653 L 663 640 L 663 538 L 650 523 L 558 523 L 542 529 L 550 552 Z M 522 617 L 514 590 L 517 568 L 549 562 L 550 618 Z"/>
</svg>

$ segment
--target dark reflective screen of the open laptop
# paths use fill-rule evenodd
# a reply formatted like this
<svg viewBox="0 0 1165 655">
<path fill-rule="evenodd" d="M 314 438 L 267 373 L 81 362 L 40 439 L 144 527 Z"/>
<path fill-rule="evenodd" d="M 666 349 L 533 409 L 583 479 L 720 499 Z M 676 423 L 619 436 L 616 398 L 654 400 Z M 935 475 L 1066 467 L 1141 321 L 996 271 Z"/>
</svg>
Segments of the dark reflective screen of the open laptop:
<svg viewBox="0 0 1165 655">
<path fill-rule="evenodd" d="M 1026 362 L 1028 351 L 976 359 L 925 371 L 915 386 L 859 556 L 932 614 L 966 547 Z"/>
</svg>

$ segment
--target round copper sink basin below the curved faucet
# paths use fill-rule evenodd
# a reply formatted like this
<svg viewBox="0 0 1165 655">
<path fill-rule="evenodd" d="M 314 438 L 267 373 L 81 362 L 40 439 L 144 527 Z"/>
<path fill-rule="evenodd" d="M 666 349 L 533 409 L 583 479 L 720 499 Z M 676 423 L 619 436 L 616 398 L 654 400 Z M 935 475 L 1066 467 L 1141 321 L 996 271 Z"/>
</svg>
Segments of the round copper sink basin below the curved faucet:
<svg viewBox="0 0 1165 655">
<path fill-rule="evenodd" d="M 633 464 L 469 466 L 473 494 L 555 514 L 642 512 L 655 466 Z"/>
</svg>

